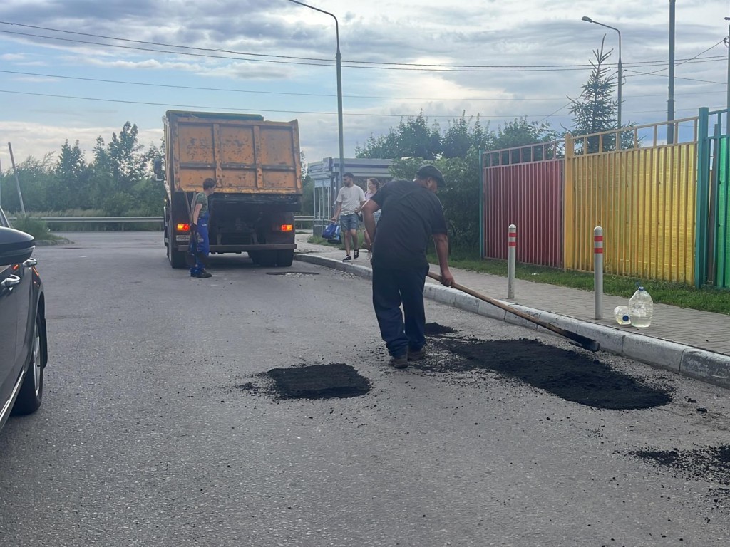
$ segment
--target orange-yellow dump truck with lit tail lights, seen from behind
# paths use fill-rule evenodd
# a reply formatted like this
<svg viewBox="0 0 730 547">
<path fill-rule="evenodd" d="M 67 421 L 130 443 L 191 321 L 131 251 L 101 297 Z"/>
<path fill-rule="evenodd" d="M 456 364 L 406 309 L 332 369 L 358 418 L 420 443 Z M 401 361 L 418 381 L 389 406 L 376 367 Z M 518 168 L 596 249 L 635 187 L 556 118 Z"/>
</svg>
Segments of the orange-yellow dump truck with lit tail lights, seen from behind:
<svg viewBox="0 0 730 547">
<path fill-rule="evenodd" d="M 215 179 L 208 198 L 210 252 L 247 252 L 254 263 L 291 266 L 294 214 L 301 210 L 299 124 L 261 115 L 169 110 L 163 158 L 164 244 L 172 268 L 186 265 L 191 201 L 203 181 Z"/>
</svg>

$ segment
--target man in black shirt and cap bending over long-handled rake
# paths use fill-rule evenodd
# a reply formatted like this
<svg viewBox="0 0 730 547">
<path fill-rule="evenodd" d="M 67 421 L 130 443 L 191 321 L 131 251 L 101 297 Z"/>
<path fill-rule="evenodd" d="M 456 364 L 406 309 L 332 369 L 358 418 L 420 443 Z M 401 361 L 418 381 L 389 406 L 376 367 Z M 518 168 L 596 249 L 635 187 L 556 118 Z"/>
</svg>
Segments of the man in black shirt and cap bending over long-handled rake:
<svg viewBox="0 0 730 547">
<path fill-rule="evenodd" d="M 423 286 L 429 272 L 429 238 L 436 244 L 442 284 L 450 287 L 453 283 L 446 220 L 436 197 L 443 185 L 441 171 L 423 166 L 412 182 L 388 182 L 362 208 L 365 229 L 373 242 L 372 303 L 395 368 L 406 368 L 408 361 L 426 357 Z M 376 230 L 373 214 L 379 209 L 383 212 Z"/>
</svg>

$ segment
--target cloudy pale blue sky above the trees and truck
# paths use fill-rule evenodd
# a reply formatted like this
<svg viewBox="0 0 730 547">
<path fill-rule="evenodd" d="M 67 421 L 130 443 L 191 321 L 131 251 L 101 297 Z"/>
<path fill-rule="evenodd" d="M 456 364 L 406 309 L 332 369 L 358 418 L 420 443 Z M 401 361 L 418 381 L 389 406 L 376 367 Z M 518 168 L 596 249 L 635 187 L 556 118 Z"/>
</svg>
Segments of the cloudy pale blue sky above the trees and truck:
<svg viewBox="0 0 730 547">
<path fill-rule="evenodd" d="M 666 120 L 669 0 L 303 0 L 339 20 L 345 157 L 423 112 L 496 129 L 569 128 L 606 34 L 623 122 Z M 675 118 L 726 104 L 728 0 L 677 0 Z M 307 161 L 339 155 L 334 19 L 288 0 L 4 0 L 0 162 L 90 151 L 128 120 L 159 143 L 167 109 L 299 120 Z"/>
</svg>

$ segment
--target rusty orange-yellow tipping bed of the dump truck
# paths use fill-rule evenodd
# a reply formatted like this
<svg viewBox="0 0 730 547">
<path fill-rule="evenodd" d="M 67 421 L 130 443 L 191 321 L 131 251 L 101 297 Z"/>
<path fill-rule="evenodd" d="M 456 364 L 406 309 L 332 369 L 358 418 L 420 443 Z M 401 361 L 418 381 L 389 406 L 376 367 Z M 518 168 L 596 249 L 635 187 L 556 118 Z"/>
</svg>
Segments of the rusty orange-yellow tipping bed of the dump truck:
<svg viewBox="0 0 730 547">
<path fill-rule="evenodd" d="M 299 123 L 259 115 L 168 111 L 164 117 L 168 193 L 301 195 Z"/>
</svg>

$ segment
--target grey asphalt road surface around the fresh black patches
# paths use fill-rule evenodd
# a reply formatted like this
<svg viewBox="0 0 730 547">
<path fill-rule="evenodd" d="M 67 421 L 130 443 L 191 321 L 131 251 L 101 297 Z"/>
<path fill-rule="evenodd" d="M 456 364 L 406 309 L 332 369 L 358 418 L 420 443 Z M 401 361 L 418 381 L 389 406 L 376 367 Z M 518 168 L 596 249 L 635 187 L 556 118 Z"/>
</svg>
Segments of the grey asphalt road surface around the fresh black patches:
<svg viewBox="0 0 730 547">
<path fill-rule="evenodd" d="M 673 392 L 666 406 L 607 411 L 496 373 L 389 370 L 362 279 L 304 263 L 270 275 L 283 270 L 245 255 L 191 279 L 159 233 L 70 237 L 35 255 L 50 362 L 41 410 L 0 432 L 3 547 L 727 544 L 721 479 L 628 454 L 729 444 L 723 389 L 599 354 Z M 464 335 L 572 349 L 426 311 Z M 330 362 L 370 392 L 239 388 Z"/>
</svg>

